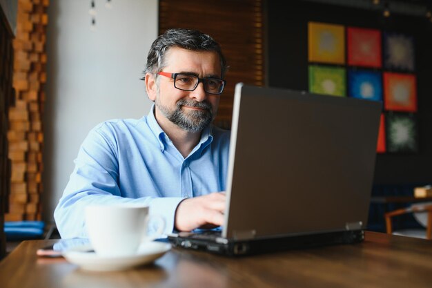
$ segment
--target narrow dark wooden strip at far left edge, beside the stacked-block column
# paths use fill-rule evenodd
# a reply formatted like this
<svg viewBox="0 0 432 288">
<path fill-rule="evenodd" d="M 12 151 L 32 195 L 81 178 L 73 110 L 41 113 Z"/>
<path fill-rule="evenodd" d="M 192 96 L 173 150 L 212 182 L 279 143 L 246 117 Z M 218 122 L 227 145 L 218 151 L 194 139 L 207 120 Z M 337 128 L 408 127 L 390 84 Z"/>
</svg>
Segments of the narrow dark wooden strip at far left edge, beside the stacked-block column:
<svg viewBox="0 0 432 288">
<path fill-rule="evenodd" d="M 0 8 L 0 259 L 6 254 L 3 233 L 4 215 L 8 211 L 10 160 L 8 159 L 8 108 L 14 99 L 12 88 L 13 34 Z"/>
</svg>

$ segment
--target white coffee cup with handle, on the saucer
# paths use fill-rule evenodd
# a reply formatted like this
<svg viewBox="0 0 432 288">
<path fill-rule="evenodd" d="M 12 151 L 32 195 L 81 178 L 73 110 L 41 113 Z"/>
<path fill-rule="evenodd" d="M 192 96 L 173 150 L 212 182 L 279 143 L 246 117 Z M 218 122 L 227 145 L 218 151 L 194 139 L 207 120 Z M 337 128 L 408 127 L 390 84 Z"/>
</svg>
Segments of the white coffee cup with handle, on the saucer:
<svg viewBox="0 0 432 288">
<path fill-rule="evenodd" d="M 148 215 L 148 206 L 92 204 L 86 207 L 86 229 L 98 256 L 132 256 L 144 242 L 161 236 L 165 220 Z M 157 231 L 148 231 L 150 220 L 159 218 Z"/>
</svg>

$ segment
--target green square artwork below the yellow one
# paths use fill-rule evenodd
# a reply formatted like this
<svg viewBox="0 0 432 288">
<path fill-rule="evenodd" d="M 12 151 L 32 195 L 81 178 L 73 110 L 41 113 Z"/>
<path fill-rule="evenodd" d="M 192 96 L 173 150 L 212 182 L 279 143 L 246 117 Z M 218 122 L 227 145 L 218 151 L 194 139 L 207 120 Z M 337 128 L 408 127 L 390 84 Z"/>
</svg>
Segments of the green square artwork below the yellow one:
<svg viewBox="0 0 432 288">
<path fill-rule="evenodd" d="M 333 96 L 346 95 L 345 68 L 309 66 L 309 92 Z"/>
</svg>

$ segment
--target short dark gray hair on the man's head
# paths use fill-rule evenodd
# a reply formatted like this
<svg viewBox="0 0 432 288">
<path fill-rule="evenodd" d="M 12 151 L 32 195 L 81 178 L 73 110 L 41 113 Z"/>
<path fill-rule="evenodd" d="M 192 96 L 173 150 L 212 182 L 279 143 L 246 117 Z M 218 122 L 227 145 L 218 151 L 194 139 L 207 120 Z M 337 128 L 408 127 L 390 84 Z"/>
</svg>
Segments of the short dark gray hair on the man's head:
<svg viewBox="0 0 432 288">
<path fill-rule="evenodd" d="M 209 35 L 198 30 L 168 29 L 153 41 L 147 56 L 146 73 L 159 73 L 165 64 L 165 53 L 171 47 L 178 47 L 193 51 L 214 51 L 219 55 L 221 77 L 224 78 L 228 66 L 219 44 Z M 144 77 L 145 78 L 145 77 Z M 143 80 L 144 80 L 143 78 Z"/>
</svg>

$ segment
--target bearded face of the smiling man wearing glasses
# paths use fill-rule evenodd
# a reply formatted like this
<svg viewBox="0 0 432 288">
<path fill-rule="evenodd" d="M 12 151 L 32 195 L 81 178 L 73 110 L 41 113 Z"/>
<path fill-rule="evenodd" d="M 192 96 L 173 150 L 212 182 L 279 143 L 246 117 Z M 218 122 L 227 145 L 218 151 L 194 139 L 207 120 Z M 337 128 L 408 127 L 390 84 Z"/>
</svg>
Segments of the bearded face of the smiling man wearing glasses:
<svg viewBox="0 0 432 288">
<path fill-rule="evenodd" d="M 166 67 L 162 70 L 166 73 L 188 73 L 199 78 L 221 77 L 216 52 L 170 48 L 165 57 Z M 215 118 L 219 97 L 206 93 L 203 83 L 193 91 L 184 91 L 174 87 L 174 79 L 159 75 L 159 89 L 153 99 L 156 119 L 168 120 L 185 131 L 202 131 Z"/>
</svg>

